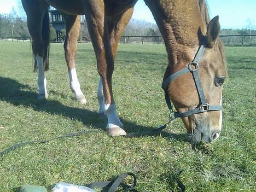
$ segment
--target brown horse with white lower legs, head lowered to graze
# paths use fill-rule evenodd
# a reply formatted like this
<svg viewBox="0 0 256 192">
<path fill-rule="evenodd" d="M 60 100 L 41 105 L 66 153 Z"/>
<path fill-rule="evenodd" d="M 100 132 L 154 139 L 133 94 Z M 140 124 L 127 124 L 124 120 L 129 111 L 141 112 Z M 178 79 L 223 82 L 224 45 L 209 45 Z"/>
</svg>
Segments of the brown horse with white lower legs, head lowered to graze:
<svg viewBox="0 0 256 192">
<path fill-rule="evenodd" d="M 163 88 L 169 108 L 171 100 L 178 112 L 176 116 L 182 118 L 192 141 L 211 142 L 217 139 L 222 128 L 222 84 L 227 76 L 223 45 L 218 38 L 218 17 L 210 22 L 205 0 L 144 1 L 152 11 L 166 45 L 169 63 Z M 76 77 L 74 59 L 80 22 L 77 15 L 85 14 L 100 74 L 98 113 L 107 116 L 107 131 L 112 136 L 126 134 L 116 112 L 112 73 L 119 39 L 131 19 L 136 2 L 22 0 L 40 76 L 39 97 L 47 97 L 43 71 L 47 69 L 49 38 L 44 27 L 46 21 L 49 22 L 49 5 L 67 14 L 65 56 L 71 79 Z M 74 82 L 75 88 L 79 88 L 77 78 Z M 71 87 L 72 83 L 71 80 Z M 80 88 L 78 92 L 75 96 L 85 100 Z"/>
</svg>

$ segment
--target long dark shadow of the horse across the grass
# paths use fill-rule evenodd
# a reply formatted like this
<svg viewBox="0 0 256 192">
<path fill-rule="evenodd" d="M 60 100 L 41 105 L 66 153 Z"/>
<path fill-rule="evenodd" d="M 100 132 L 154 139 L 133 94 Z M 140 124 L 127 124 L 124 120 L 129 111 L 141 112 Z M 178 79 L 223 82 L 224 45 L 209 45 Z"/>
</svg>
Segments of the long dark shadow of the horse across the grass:
<svg viewBox="0 0 256 192">
<path fill-rule="evenodd" d="M 26 91 L 24 91 L 26 89 Z M 88 109 L 80 109 L 74 107 L 63 106 L 59 101 L 44 101 L 37 100 L 36 92 L 27 91 L 31 90 L 30 86 L 20 84 L 14 79 L 0 77 L 0 100 L 5 101 L 15 106 L 25 106 L 33 108 L 38 112 L 46 112 L 52 115 L 62 115 L 69 119 L 77 119 L 86 126 L 94 126 L 96 129 L 104 130 L 107 121 L 98 117 L 96 112 L 92 112 Z M 163 137 L 173 138 L 176 140 L 185 140 L 184 134 L 174 134 L 165 131 L 153 132 L 155 127 L 141 126 L 120 118 L 124 126 L 127 127 L 126 131 L 134 132 L 129 137 L 141 137 L 141 136 L 154 136 L 162 135 Z M 138 130 L 140 132 L 138 132 Z"/>
</svg>

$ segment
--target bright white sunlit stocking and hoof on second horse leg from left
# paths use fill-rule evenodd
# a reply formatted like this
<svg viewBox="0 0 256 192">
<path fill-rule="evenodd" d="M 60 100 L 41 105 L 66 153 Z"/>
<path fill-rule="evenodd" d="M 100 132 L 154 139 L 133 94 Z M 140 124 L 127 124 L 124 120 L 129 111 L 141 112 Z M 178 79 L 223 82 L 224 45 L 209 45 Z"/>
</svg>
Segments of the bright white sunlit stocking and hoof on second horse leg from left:
<svg viewBox="0 0 256 192">
<path fill-rule="evenodd" d="M 68 74 L 70 79 L 70 88 L 75 95 L 75 100 L 80 101 L 84 104 L 87 103 L 86 98 L 80 89 L 80 84 L 77 78 L 77 71 L 75 70 L 75 68 L 70 69 Z"/>
</svg>

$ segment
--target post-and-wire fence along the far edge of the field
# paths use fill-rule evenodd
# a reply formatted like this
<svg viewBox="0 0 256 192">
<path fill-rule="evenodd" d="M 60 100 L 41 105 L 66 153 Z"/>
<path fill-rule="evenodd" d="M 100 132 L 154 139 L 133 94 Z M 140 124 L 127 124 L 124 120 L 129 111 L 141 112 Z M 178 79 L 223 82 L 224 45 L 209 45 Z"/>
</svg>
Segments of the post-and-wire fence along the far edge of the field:
<svg viewBox="0 0 256 192">
<path fill-rule="evenodd" d="M 220 35 L 220 38 L 225 46 L 256 46 L 256 34 Z M 80 40 L 79 43 L 91 43 L 90 37 L 82 37 Z M 31 42 L 31 37 L 0 37 L 0 41 Z M 162 36 L 122 36 L 119 43 L 164 44 L 164 40 L 162 39 Z"/>
</svg>

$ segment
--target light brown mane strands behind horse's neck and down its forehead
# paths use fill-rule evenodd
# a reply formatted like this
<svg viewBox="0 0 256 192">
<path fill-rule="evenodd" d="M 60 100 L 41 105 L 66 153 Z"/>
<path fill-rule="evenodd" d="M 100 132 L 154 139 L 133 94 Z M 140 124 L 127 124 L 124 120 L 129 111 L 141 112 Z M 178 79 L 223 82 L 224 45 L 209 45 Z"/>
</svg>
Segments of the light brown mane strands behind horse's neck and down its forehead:
<svg viewBox="0 0 256 192">
<path fill-rule="evenodd" d="M 210 14 L 209 14 L 209 9 L 208 9 L 208 4 L 206 0 L 197 0 L 201 13 L 202 13 L 202 19 L 203 21 L 205 21 L 206 26 L 208 26 L 208 24 L 211 21 L 210 18 Z M 220 38 L 218 38 L 218 42 L 217 42 L 217 49 L 219 49 L 220 51 L 220 55 L 222 56 L 222 61 L 225 65 L 225 72 L 226 72 L 226 76 L 228 76 L 228 68 L 226 65 L 226 56 L 225 56 L 225 51 L 224 51 L 224 44 L 222 42 L 222 40 Z"/>
</svg>

